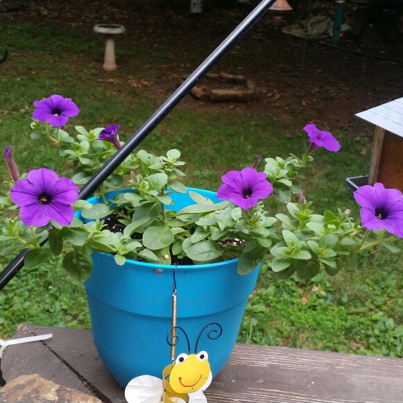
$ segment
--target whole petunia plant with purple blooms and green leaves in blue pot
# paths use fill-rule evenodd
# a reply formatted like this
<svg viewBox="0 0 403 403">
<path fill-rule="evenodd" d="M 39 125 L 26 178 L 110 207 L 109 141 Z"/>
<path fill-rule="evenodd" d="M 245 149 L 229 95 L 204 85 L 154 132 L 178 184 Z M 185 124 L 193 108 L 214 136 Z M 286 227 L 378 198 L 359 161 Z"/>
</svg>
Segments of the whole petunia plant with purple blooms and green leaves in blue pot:
<svg viewBox="0 0 403 403">
<path fill-rule="evenodd" d="M 216 200 L 189 191 L 194 204 L 178 209 L 173 194 L 188 190 L 175 149 L 162 156 L 132 153 L 103 182 L 94 203 L 78 200 L 80 185 L 123 145 L 120 126 L 76 126 L 69 134 L 62 127 L 79 112 L 70 98 L 52 95 L 33 105 L 31 137 L 48 138 L 72 169 L 71 178 L 44 167 L 19 175 L 11 146 L 4 148 L 10 194 L 0 202 L 14 215 L 3 218 L 0 241 L 8 246 L 1 253 L 29 248 L 27 266 L 64 253 L 67 272 L 85 280 L 95 250 L 114 255 L 118 265 L 126 259 L 180 265 L 238 258 L 241 275 L 266 259 L 278 277 L 296 272 L 311 278 L 321 270 L 335 275 L 357 252 L 377 244 L 395 252 L 403 237 L 402 193 L 381 183 L 354 193 L 361 223 L 340 209 L 314 213 L 301 190 L 303 171 L 318 149 L 336 153 L 340 144 L 313 123 L 303 128 L 308 142 L 301 156 L 259 156 L 251 166 L 223 174 Z M 115 189 L 123 190 L 109 192 Z M 268 197 L 284 203 L 287 214 L 267 211 Z"/>
</svg>

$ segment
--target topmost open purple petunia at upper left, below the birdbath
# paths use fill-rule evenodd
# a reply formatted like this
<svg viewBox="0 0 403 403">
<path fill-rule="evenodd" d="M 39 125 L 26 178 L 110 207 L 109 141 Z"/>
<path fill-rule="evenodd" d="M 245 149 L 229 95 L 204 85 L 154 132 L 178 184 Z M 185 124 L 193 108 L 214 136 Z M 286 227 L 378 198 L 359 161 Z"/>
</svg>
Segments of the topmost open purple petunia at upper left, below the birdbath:
<svg viewBox="0 0 403 403">
<path fill-rule="evenodd" d="M 35 101 L 33 105 L 37 108 L 33 111 L 33 119 L 58 127 L 65 126 L 70 117 L 75 117 L 80 112 L 71 98 L 63 98 L 57 94 Z"/>
</svg>

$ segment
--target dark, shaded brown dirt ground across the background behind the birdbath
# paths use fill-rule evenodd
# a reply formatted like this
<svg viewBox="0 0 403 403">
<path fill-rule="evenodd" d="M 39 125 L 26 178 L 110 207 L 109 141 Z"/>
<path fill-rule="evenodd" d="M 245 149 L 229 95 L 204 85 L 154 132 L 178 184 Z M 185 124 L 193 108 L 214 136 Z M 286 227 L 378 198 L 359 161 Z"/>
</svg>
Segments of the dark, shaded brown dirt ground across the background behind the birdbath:
<svg viewBox="0 0 403 403">
<path fill-rule="evenodd" d="M 162 103 L 175 89 L 175 77 L 196 69 L 255 3 L 211 2 L 203 15 L 195 16 L 189 15 L 187 1 L 3 0 L 0 19 L 38 26 L 53 21 L 88 32 L 94 24 L 123 24 L 127 34 L 119 39 L 117 49 L 121 75 L 100 80 L 114 80 L 115 91 L 134 87 Z M 334 1 L 290 3 L 294 10 L 286 24 L 315 15 L 334 17 Z M 346 2 L 343 16 L 343 22 L 353 27 L 357 24 L 355 3 Z M 335 43 L 330 35 L 321 39 L 286 35 L 281 27 L 271 25 L 271 15 L 266 13 L 211 70 L 246 76 L 256 86 L 257 99 L 211 103 L 187 96 L 179 107 L 217 112 L 237 108 L 284 119 L 295 128 L 307 121 L 335 130 L 357 129 L 357 125 L 365 128 L 354 114 L 403 94 L 402 33 L 399 27 L 394 28 L 389 36 L 384 31 L 377 35 L 371 26 L 367 31 L 360 28 L 359 35 L 352 29 Z M 130 46 L 139 49 L 136 60 L 119 55 L 119 50 Z M 147 52 L 151 47 L 153 60 Z M 71 62 L 86 67 L 85 58 Z M 203 80 L 199 84 L 203 85 Z"/>
</svg>

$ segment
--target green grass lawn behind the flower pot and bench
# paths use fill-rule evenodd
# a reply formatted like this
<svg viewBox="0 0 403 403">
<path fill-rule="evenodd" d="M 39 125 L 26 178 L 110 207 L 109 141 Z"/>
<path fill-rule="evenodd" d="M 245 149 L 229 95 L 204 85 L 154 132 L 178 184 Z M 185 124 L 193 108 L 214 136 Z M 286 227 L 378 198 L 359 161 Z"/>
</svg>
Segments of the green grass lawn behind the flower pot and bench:
<svg viewBox="0 0 403 403">
<path fill-rule="evenodd" d="M 185 52 L 173 46 L 153 48 L 148 40 L 131 46 L 128 38 L 122 38 L 119 49 L 126 64 L 106 73 L 100 67 L 101 40 L 83 35 L 82 27 L 73 30 L 55 22 L 40 27 L 3 22 L 0 31 L 5 39 L 2 46 L 12 55 L 0 67 L 0 139 L 2 145 L 15 149 L 20 172 L 40 166 L 59 173 L 68 171 L 56 148 L 29 137 L 33 101 L 53 93 L 69 96 L 81 110 L 69 121 L 69 130 L 75 125 L 95 128 L 119 123 L 122 137 L 127 139 L 161 102 L 161 96 L 157 98 L 152 89 L 130 87 L 128 76 L 169 92 L 172 88 L 164 78 L 158 78 L 164 72 L 159 65 L 186 59 Z M 236 49 L 240 52 L 242 46 Z M 250 49 L 247 53 L 246 58 L 251 58 Z M 241 62 L 241 55 L 236 56 Z M 189 58 L 192 63 L 200 60 L 196 55 Z M 323 96 L 333 94 L 325 92 Z M 187 162 L 186 185 L 215 190 L 225 171 L 250 165 L 256 155 L 286 157 L 289 152 L 300 153 L 307 142 L 293 126 L 264 108 L 252 112 L 180 105 L 141 148 L 153 153 L 180 149 Z M 336 130 L 334 135 L 342 149 L 337 154 L 317 153 L 314 166 L 307 171 L 305 195 L 318 211 L 340 207 L 357 215 L 352 195 L 345 189 L 345 178 L 368 171 L 368 157 L 363 157 L 361 150 L 368 148 L 370 133 Z M 0 169 L 1 178 L 6 179 L 2 162 Z M 275 205 L 273 200 L 268 202 L 268 207 Z M 376 250 L 362 255 L 356 268 L 314 282 L 275 280 L 265 264 L 248 302 L 239 341 L 403 357 L 400 258 Z M 1 267 L 7 261 L 0 257 Z M 90 326 L 83 284 L 67 277 L 57 259 L 20 271 L 0 292 L 0 307 L 0 337 L 11 336 L 22 322 Z"/>
</svg>

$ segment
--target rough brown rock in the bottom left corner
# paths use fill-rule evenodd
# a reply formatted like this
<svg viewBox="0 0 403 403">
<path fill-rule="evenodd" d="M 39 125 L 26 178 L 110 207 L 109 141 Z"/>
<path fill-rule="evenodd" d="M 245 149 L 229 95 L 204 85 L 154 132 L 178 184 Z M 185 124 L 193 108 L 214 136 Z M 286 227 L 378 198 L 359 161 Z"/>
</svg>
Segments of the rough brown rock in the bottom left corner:
<svg viewBox="0 0 403 403">
<path fill-rule="evenodd" d="M 22 375 L 0 388 L 0 403 L 102 403 L 94 396 L 60 386 L 38 374 Z"/>
</svg>

